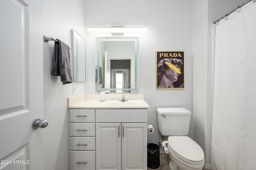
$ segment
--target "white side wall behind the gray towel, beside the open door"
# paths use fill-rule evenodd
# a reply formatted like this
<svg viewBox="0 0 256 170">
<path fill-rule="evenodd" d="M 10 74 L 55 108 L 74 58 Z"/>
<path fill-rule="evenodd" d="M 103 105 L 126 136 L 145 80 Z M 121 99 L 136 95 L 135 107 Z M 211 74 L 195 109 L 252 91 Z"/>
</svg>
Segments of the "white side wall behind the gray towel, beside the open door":
<svg viewBox="0 0 256 170">
<path fill-rule="evenodd" d="M 85 37 L 84 0 L 44 0 L 43 8 L 43 32 L 45 36 L 60 39 L 70 47 L 71 29 L 74 28 L 81 36 Z M 46 170 L 69 170 L 69 113 L 67 110 L 67 98 L 73 95 L 73 85 L 77 87 L 76 95 L 85 93 L 85 83 L 74 82 L 62 85 L 59 76 L 50 75 L 53 47 L 53 41 L 44 43 L 43 119 L 49 121 L 48 127 L 44 128 L 44 168 Z"/>
</svg>

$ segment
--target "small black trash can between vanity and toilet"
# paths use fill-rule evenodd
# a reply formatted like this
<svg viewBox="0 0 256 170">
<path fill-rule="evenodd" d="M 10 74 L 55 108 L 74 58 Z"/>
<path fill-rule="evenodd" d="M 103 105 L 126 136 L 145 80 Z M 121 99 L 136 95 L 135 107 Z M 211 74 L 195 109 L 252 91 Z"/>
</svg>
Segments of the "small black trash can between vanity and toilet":
<svg viewBox="0 0 256 170">
<path fill-rule="evenodd" d="M 157 144 L 148 143 L 148 168 L 157 169 L 160 166 L 160 148 Z"/>
</svg>

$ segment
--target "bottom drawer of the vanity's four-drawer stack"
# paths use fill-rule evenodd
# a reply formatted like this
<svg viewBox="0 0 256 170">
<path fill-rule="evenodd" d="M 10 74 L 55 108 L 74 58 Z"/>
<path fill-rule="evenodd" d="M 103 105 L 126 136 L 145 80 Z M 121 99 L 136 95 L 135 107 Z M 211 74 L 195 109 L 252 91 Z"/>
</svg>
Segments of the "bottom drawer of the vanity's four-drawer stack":
<svg viewBox="0 0 256 170">
<path fill-rule="evenodd" d="M 70 150 L 70 170 L 95 170 L 95 151 Z"/>
</svg>

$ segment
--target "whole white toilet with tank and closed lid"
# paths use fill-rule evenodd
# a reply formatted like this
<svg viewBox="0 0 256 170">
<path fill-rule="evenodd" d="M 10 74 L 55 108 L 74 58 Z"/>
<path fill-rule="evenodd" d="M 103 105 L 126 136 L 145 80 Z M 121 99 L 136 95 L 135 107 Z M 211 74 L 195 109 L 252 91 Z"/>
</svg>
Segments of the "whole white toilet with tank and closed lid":
<svg viewBox="0 0 256 170">
<path fill-rule="evenodd" d="M 158 128 L 163 136 L 168 136 L 170 166 L 174 163 L 178 170 L 202 170 L 204 152 L 188 136 L 191 112 L 180 107 L 157 108 Z"/>
</svg>

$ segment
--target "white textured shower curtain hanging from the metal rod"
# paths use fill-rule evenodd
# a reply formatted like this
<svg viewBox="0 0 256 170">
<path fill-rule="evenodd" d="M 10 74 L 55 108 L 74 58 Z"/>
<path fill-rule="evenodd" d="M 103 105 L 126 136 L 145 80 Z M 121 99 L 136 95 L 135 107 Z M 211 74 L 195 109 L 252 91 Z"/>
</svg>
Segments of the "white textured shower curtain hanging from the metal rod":
<svg viewBox="0 0 256 170">
<path fill-rule="evenodd" d="M 212 162 L 256 170 L 256 3 L 216 25 Z"/>
</svg>

